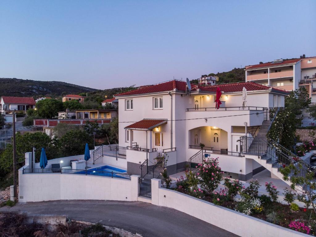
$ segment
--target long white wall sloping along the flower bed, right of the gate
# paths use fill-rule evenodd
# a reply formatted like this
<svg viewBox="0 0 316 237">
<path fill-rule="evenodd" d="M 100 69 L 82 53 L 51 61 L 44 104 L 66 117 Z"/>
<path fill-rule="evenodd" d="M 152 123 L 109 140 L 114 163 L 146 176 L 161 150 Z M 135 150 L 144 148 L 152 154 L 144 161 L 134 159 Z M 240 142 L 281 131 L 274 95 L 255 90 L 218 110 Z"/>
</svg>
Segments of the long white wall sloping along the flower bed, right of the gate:
<svg viewBox="0 0 316 237">
<path fill-rule="evenodd" d="M 161 188 L 159 179 L 152 179 L 151 184 L 152 204 L 176 209 L 242 237 L 310 236 L 174 190 Z"/>
</svg>

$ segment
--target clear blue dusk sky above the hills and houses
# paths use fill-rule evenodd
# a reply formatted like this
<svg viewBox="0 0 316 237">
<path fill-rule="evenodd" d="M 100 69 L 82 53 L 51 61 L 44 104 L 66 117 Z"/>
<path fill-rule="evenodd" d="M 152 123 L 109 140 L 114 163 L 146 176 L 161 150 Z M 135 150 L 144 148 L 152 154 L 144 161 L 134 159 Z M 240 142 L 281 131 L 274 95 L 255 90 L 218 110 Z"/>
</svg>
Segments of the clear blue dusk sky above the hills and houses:
<svg viewBox="0 0 316 237">
<path fill-rule="evenodd" d="M 106 89 L 316 56 L 315 9 L 315 0 L 1 1 L 0 78 Z"/>
</svg>

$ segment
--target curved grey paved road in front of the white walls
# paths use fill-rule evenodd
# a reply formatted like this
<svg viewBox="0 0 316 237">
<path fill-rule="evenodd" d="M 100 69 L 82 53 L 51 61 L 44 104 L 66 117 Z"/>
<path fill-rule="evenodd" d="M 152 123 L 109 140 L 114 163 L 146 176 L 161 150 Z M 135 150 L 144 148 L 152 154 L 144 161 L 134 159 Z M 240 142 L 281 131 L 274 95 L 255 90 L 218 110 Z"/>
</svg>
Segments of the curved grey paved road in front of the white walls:
<svg viewBox="0 0 316 237">
<path fill-rule="evenodd" d="M 0 211 L 7 210 L 30 214 L 67 215 L 72 220 L 100 222 L 132 233 L 137 232 L 144 237 L 237 236 L 175 209 L 143 202 L 48 201 L 18 203 L 12 208 L 0 208 Z"/>
</svg>

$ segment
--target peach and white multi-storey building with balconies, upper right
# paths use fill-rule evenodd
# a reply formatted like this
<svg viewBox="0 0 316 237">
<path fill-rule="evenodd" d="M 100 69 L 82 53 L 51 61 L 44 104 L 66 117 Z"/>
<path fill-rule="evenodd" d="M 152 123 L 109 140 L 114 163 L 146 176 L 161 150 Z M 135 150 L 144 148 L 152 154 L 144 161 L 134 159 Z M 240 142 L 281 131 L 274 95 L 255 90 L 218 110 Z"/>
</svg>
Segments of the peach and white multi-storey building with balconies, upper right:
<svg viewBox="0 0 316 237">
<path fill-rule="evenodd" d="M 305 87 L 312 102 L 316 103 L 316 57 L 277 59 L 246 66 L 245 71 L 246 82 L 257 82 L 289 91 Z"/>
</svg>

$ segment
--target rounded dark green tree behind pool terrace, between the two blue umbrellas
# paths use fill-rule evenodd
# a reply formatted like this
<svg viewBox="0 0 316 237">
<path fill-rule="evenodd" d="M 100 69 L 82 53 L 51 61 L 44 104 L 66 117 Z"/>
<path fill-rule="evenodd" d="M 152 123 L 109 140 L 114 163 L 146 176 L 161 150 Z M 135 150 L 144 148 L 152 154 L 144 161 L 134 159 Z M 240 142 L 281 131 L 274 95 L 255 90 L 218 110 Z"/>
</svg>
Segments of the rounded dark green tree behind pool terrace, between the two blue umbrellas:
<svg viewBox="0 0 316 237">
<path fill-rule="evenodd" d="M 86 143 L 90 149 L 94 148 L 93 138 L 86 131 L 71 130 L 59 140 L 60 151 L 63 156 L 82 155 Z"/>
</svg>

